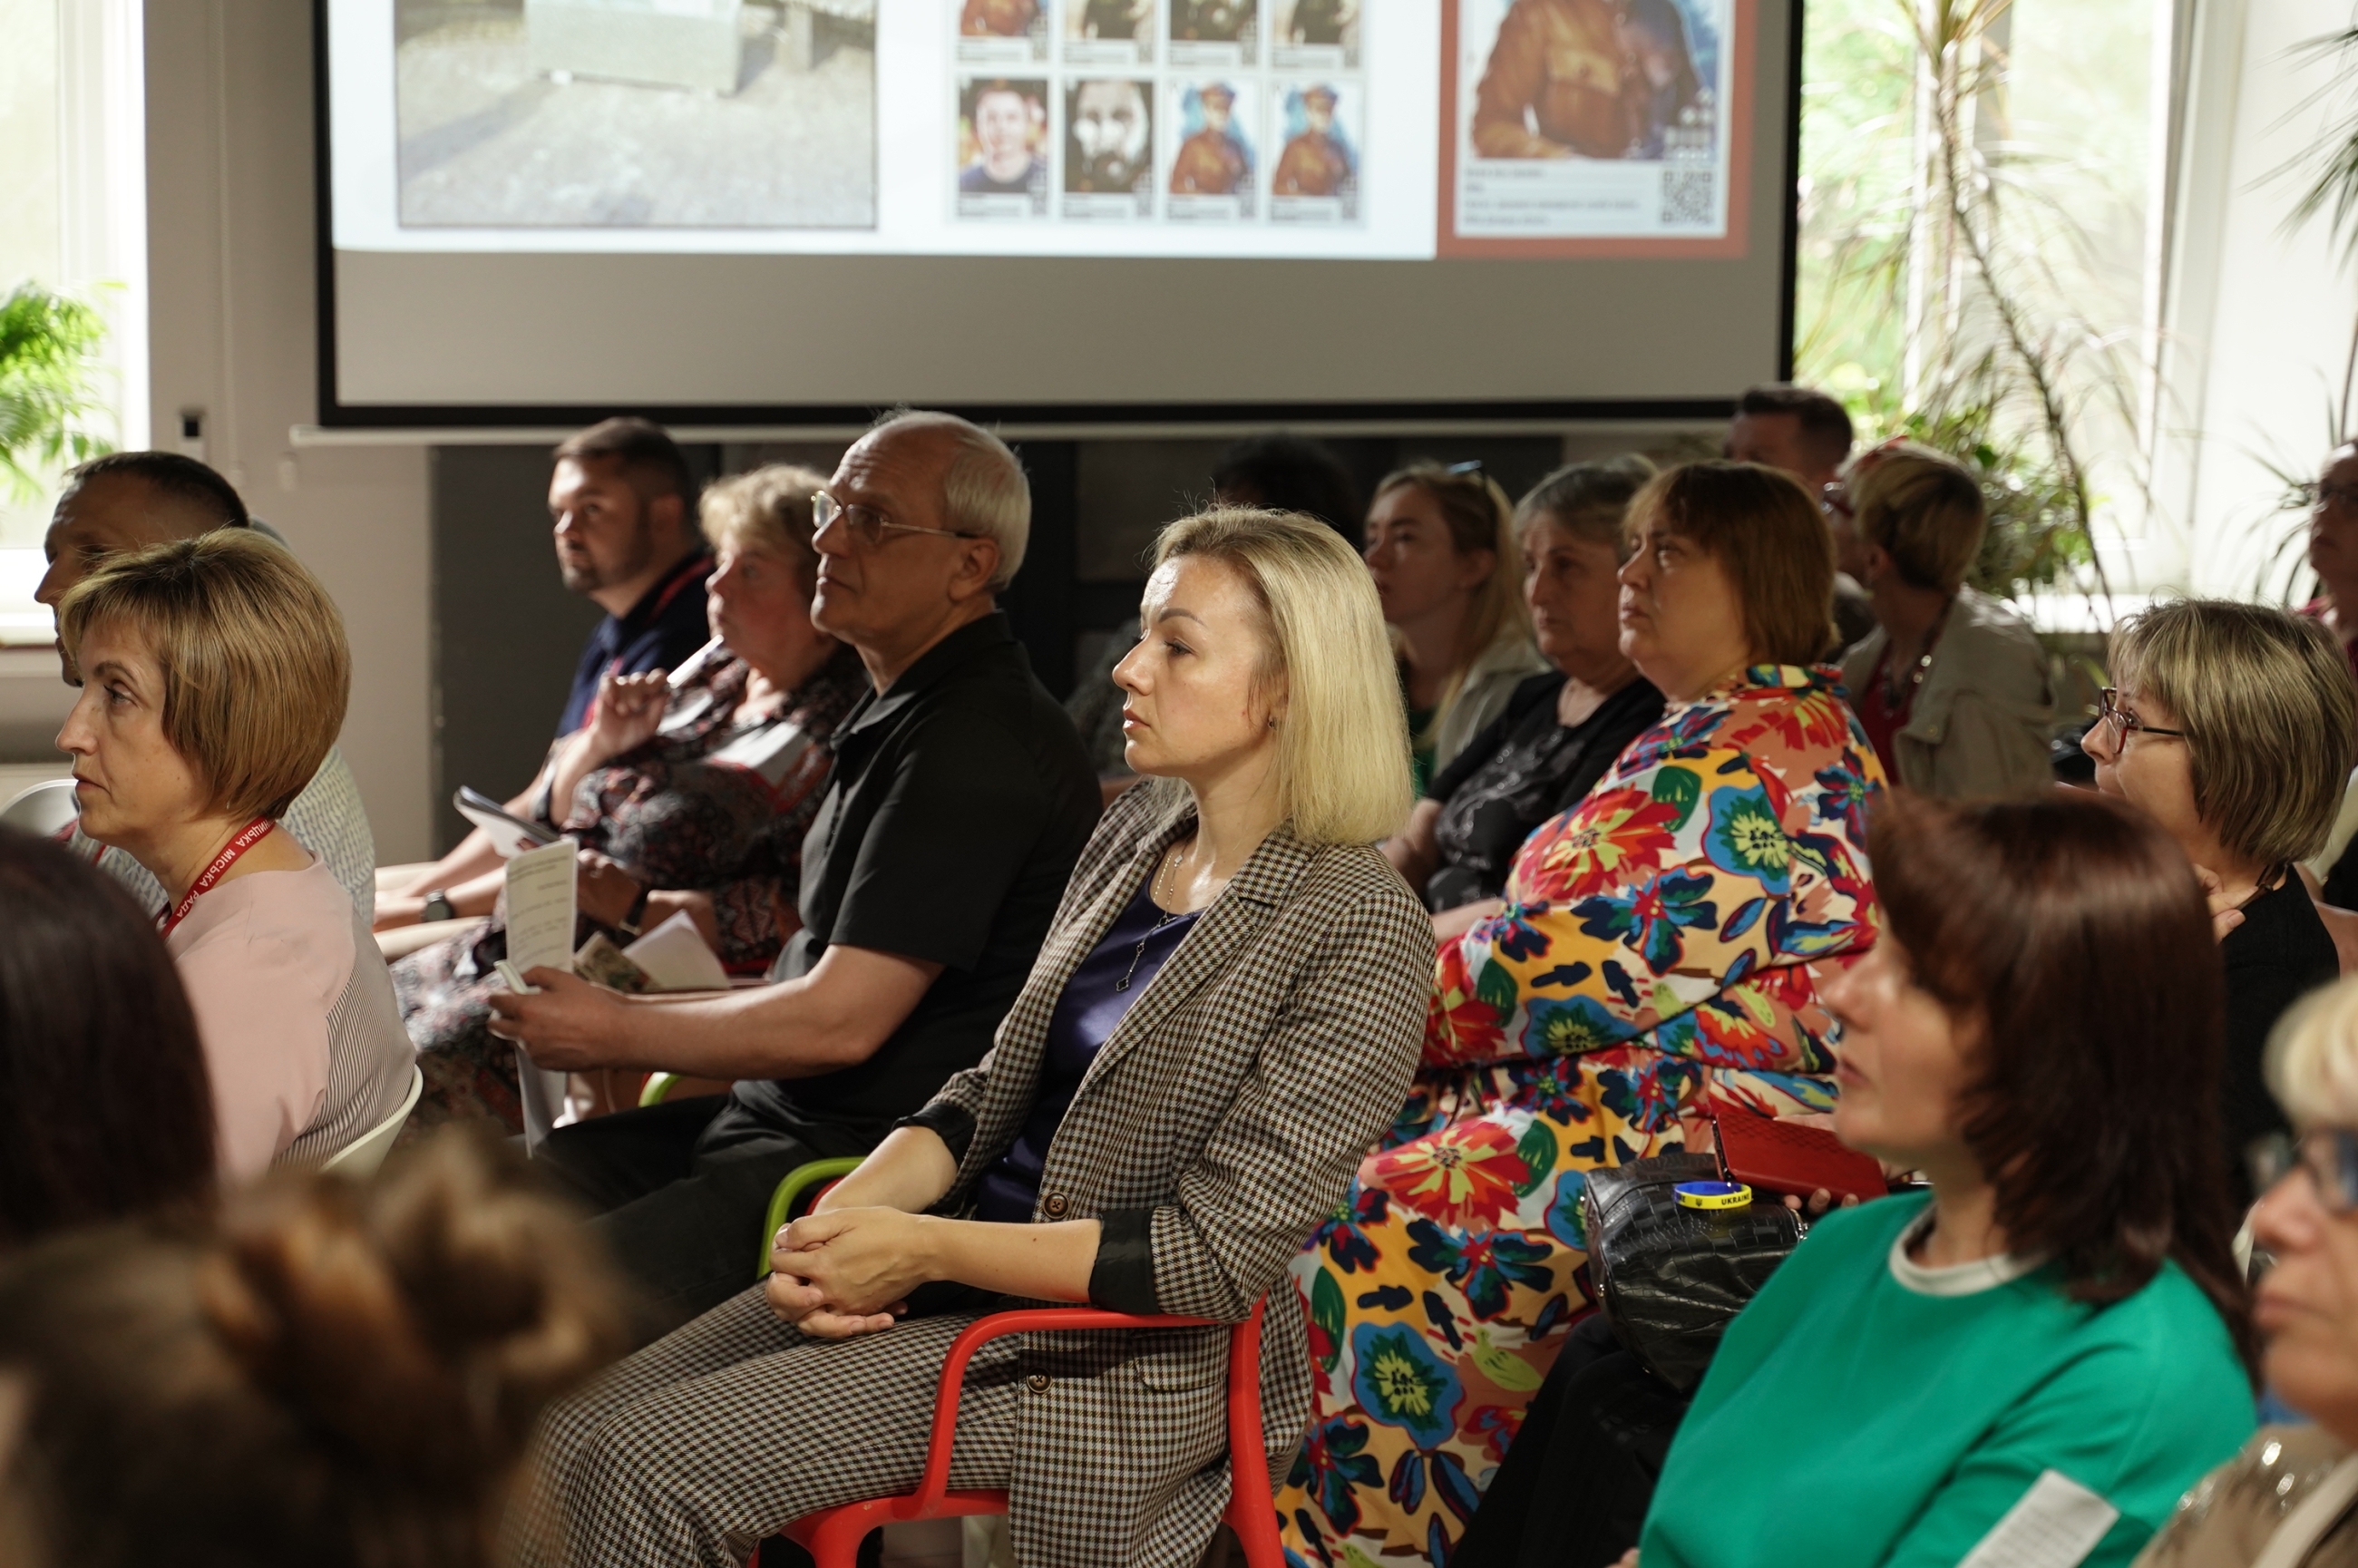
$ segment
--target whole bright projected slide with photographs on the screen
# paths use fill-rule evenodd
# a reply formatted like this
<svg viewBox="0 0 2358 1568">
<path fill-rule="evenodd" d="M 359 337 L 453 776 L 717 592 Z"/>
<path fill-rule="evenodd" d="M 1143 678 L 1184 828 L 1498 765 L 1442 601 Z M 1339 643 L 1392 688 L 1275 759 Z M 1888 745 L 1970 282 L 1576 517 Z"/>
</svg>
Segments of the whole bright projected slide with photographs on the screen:
<svg viewBox="0 0 2358 1568">
<path fill-rule="evenodd" d="M 337 0 L 377 252 L 1740 255 L 1752 0 Z"/>
</svg>

